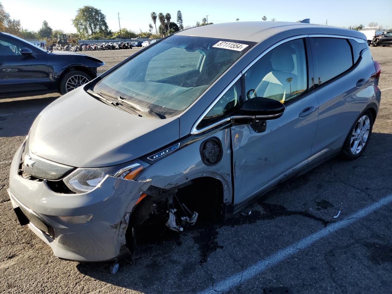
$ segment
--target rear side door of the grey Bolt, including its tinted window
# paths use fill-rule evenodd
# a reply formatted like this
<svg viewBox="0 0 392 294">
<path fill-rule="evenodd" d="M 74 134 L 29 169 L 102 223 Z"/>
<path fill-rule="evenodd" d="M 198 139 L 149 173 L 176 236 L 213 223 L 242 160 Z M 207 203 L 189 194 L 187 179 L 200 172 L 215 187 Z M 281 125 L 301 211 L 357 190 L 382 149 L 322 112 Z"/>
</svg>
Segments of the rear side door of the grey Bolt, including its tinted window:
<svg viewBox="0 0 392 294">
<path fill-rule="evenodd" d="M 310 40 L 319 102 L 312 154 L 328 154 L 341 149 L 353 123 L 367 106 L 374 65 L 365 40 L 330 35 Z"/>
</svg>

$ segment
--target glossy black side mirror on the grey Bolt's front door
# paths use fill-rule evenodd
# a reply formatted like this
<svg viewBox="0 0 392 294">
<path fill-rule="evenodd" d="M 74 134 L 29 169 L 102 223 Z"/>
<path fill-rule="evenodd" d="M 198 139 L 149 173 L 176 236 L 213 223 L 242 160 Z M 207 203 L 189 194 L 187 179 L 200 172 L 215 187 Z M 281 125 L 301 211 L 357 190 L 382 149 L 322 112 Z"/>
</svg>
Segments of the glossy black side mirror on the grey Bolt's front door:
<svg viewBox="0 0 392 294">
<path fill-rule="evenodd" d="M 246 100 L 241 110 L 245 116 L 254 116 L 260 120 L 274 120 L 283 115 L 285 105 L 270 98 L 254 97 Z"/>
</svg>

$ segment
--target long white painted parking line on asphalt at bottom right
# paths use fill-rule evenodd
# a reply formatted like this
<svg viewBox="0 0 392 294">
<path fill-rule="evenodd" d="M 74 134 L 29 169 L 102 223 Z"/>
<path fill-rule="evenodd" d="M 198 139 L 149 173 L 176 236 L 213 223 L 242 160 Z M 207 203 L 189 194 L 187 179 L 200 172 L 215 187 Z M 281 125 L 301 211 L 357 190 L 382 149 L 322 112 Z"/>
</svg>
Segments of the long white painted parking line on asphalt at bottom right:
<svg viewBox="0 0 392 294">
<path fill-rule="evenodd" d="M 345 218 L 344 220 L 341 221 L 337 221 L 332 225 L 328 225 L 326 228 L 319 230 L 318 232 L 302 239 L 301 241 L 294 243 L 293 245 L 290 245 L 289 247 L 286 247 L 285 249 L 282 249 L 276 252 L 275 254 L 268 256 L 267 258 L 259 261 L 258 263 L 255 263 L 254 265 L 248 267 L 247 269 L 244 269 L 242 272 L 238 272 L 237 274 L 234 274 L 231 277 L 224 279 L 223 281 L 220 281 L 219 283 L 215 284 L 213 287 L 205 289 L 204 291 L 200 292 L 200 294 L 207 294 L 207 293 L 216 294 L 216 292 L 227 292 L 231 288 L 238 286 L 240 285 L 240 283 L 243 283 L 244 281 L 253 278 L 254 276 L 262 273 L 264 270 L 273 267 L 274 265 L 292 256 L 293 254 L 296 254 L 300 250 L 306 249 L 307 247 L 309 247 L 316 241 L 320 240 L 321 238 L 324 238 L 332 234 L 333 232 L 343 229 L 348 225 L 351 225 L 352 223 L 355 223 L 356 221 L 365 218 L 372 212 L 376 211 L 377 209 L 391 202 L 392 202 L 392 194 L 382 198 L 381 200 L 377 201 L 376 203 L 364 209 L 359 210 L 358 212 L 352 214 L 348 218 Z"/>
</svg>

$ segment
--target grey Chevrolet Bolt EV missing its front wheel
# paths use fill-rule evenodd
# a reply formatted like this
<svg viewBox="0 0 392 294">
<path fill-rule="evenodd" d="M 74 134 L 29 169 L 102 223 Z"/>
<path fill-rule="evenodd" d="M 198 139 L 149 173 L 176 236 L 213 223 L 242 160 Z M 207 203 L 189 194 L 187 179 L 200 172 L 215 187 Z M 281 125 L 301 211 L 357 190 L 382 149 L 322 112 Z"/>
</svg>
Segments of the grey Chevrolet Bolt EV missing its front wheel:
<svg viewBox="0 0 392 294">
<path fill-rule="evenodd" d="M 336 154 L 361 156 L 380 71 L 365 35 L 348 29 L 180 31 L 38 115 L 11 165 L 12 205 L 55 256 L 78 261 L 228 218 Z"/>
</svg>

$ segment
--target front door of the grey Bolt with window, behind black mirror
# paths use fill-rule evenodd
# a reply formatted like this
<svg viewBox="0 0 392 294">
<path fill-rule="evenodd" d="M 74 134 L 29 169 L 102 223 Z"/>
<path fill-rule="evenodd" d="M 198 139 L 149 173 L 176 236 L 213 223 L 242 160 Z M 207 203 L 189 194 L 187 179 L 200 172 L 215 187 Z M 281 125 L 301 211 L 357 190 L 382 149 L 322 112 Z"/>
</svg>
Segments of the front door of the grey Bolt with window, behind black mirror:
<svg viewBox="0 0 392 294">
<path fill-rule="evenodd" d="M 243 74 L 246 99 L 271 98 L 286 109 L 280 118 L 265 121 L 265 130 L 255 122 L 231 127 L 234 204 L 306 167 L 319 106 L 309 90 L 313 74 L 307 60 L 305 39 L 296 39 L 273 48 Z"/>
</svg>

